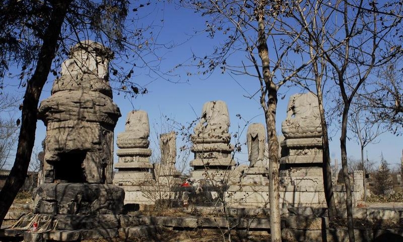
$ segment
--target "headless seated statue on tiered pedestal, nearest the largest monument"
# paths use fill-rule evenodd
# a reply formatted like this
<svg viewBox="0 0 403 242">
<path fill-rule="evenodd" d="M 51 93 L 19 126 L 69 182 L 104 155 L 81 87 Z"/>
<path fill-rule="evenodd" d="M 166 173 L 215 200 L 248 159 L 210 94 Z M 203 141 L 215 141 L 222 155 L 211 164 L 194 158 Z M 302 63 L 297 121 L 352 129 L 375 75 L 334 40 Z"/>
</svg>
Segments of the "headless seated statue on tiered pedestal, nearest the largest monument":
<svg viewBox="0 0 403 242">
<path fill-rule="evenodd" d="M 127 114 L 125 131 L 117 135 L 117 156 L 115 164 L 118 172 L 113 184 L 118 186 L 145 185 L 153 180 L 150 172 L 153 165 L 150 163 L 151 150 L 150 124 L 148 114 L 143 110 L 133 110 Z M 147 184 L 149 185 L 149 184 Z"/>
</svg>

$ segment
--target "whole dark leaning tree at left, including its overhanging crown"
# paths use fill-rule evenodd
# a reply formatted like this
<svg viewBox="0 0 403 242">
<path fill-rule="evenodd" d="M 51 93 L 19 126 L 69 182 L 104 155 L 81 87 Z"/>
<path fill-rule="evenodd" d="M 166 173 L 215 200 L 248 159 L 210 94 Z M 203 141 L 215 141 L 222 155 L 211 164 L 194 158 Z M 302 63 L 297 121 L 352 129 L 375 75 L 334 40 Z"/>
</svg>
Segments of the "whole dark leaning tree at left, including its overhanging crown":
<svg viewBox="0 0 403 242">
<path fill-rule="evenodd" d="M 133 11 L 138 12 L 150 4 L 136 3 Z M 16 159 L 0 192 L 0 224 L 24 184 L 34 147 L 37 107 L 43 86 L 49 73 L 58 75 L 56 68 L 71 46 L 86 38 L 107 45 L 115 51 L 117 63 L 130 66 L 123 71 L 123 67 L 112 65 L 112 77 L 117 81 L 115 87 L 132 95 L 146 91 L 132 81 L 131 75 L 135 68 L 152 69 L 150 62 L 157 64 L 159 58 L 154 52 L 155 38 L 147 36 L 152 32 L 147 31 L 150 25 L 141 27 L 139 15 L 126 19 L 130 7 L 129 2 L 123 0 L 7 0 L 0 6 L 0 88 L 5 87 L 8 69 L 20 67 L 20 74 L 11 78 L 19 80 L 20 88 L 25 89 Z M 144 58 L 146 54 L 148 58 Z"/>
</svg>

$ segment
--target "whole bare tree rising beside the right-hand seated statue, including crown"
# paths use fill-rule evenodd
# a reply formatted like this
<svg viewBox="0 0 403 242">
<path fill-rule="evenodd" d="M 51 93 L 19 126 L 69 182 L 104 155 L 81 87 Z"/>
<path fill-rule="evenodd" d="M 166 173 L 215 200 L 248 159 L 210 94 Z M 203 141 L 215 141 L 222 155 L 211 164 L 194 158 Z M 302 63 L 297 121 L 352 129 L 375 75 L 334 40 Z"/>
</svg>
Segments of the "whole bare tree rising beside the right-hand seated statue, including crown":
<svg viewBox="0 0 403 242">
<path fill-rule="evenodd" d="M 332 19 L 335 10 L 327 3 L 322 1 L 303 1 L 301 5 L 295 6 L 293 12 L 293 18 L 297 23 L 305 28 L 307 35 L 302 36 L 301 42 L 306 46 L 307 53 L 314 61 L 309 68 L 301 73 L 298 73 L 299 77 L 294 80 L 298 85 L 306 89 L 311 89 L 309 81 L 315 83 L 316 95 L 319 105 L 320 124 L 322 128 L 322 149 L 323 149 L 323 185 L 324 194 L 327 204 L 327 213 L 330 220 L 337 218 L 337 207 L 334 202 L 333 187 L 332 187 L 332 172 L 330 165 L 330 150 L 329 150 L 329 138 L 327 130 L 327 122 L 325 116 L 325 109 L 323 104 L 323 90 L 327 80 L 327 62 L 324 56 L 325 52 L 332 51 L 337 45 L 329 48 L 323 48 L 321 45 L 325 44 L 332 33 L 328 31 L 328 22 Z M 342 40 L 339 44 L 344 42 Z M 318 44 L 320 43 L 320 44 Z"/>
</svg>

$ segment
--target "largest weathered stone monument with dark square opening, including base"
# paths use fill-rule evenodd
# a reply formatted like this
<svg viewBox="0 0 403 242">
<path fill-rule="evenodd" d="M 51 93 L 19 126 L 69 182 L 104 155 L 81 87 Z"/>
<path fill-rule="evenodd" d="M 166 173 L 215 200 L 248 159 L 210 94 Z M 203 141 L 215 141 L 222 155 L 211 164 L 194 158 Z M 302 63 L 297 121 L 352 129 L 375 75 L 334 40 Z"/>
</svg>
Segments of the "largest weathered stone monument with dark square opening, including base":
<svg viewBox="0 0 403 242">
<path fill-rule="evenodd" d="M 33 195 L 34 213 L 87 216 L 122 211 L 124 192 L 111 185 L 113 129 L 121 116 L 108 83 L 112 56 L 99 43 L 78 43 L 63 63 L 51 96 L 41 102 L 38 116 L 46 125 L 44 184 Z"/>
</svg>

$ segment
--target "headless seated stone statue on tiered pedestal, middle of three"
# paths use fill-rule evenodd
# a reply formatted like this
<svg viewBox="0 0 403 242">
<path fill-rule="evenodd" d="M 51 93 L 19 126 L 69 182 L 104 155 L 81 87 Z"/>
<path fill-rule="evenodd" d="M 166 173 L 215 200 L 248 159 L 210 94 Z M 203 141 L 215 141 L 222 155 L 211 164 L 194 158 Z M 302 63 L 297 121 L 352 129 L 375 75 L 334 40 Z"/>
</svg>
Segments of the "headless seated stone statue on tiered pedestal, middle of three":
<svg viewBox="0 0 403 242">
<path fill-rule="evenodd" d="M 227 104 L 224 101 L 211 101 L 203 105 L 199 122 L 194 127 L 191 137 L 194 160 L 191 179 L 198 182 L 224 183 L 228 178 L 234 160 L 231 157 L 233 147 L 228 133 L 230 119 Z"/>
</svg>

